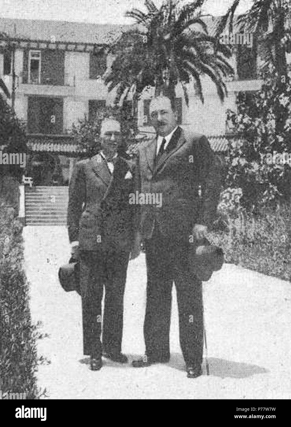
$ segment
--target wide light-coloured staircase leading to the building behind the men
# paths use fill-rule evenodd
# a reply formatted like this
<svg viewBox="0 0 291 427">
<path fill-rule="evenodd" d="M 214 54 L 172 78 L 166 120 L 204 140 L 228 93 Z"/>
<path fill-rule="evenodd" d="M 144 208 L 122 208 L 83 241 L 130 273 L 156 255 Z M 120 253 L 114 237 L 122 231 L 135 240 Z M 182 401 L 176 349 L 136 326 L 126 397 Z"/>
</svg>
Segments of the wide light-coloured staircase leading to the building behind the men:
<svg viewBox="0 0 291 427">
<path fill-rule="evenodd" d="M 25 187 L 26 225 L 66 225 L 68 187 Z"/>
</svg>

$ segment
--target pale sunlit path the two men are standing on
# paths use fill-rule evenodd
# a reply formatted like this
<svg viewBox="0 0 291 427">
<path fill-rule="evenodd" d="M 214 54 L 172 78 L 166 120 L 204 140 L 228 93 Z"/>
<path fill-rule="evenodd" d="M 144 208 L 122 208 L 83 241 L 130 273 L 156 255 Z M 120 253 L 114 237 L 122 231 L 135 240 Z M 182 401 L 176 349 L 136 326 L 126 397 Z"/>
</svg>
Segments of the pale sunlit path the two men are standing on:
<svg viewBox="0 0 291 427">
<path fill-rule="evenodd" d="M 224 265 L 204 284 L 210 375 L 186 378 L 178 338 L 173 288 L 171 360 L 133 369 L 104 360 L 89 370 L 82 354 L 81 299 L 64 292 L 58 267 L 70 255 L 63 226 L 24 228 L 26 274 L 31 283 L 32 320 L 49 338 L 38 341 L 38 385 L 51 399 L 290 399 L 291 286 L 234 265 Z M 144 353 L 145 257 L 131 261 L 125 290 L 122 351 Z M 205 353 L 204 353 L 205 354 Z"/>
</svg>

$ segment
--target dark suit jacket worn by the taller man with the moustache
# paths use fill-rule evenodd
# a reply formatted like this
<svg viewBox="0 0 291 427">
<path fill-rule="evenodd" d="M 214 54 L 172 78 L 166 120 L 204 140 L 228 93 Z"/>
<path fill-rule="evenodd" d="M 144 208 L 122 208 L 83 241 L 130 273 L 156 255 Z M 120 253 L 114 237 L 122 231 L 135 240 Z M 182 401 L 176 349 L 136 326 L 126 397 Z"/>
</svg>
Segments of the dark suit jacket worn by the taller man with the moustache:
<svg viewBox="0 0 291 427">
<path fill-rule="evenodd" d="M 139 149 L 137 188 L 162 194 L 160 208 L 141 205 L 141 237 L 150 238 L 157 224 L 165 236 L 189 240 L 194 224 L 212 225 L 220 193 L 218 162 L 205 136 L 179 127 L 157 164 L 156 150 L 156 137 Z"/>
</svg>

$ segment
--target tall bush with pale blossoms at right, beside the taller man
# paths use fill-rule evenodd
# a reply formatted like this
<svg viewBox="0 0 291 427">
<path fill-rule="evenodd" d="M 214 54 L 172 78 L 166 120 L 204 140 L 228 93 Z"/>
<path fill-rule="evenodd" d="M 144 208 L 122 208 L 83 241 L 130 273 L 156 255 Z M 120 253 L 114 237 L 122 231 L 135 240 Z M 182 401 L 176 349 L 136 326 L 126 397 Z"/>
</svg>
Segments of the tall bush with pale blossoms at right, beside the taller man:
<svg viewBox="0 0 291 427">
<path fill-rule="evenodd" d="M 228 147 L 227 185 L 242 188 L 242 204 L 248 209 L 276 206 L 291 199 L 291 167 L 267 164 L 273 152 L 291 153 L 291 85 L 276 76 L 265 79 L 262 90 L 241 93 L 237 110 L 228 111 L 228 120 L 241 141 Z"/>
</svg>

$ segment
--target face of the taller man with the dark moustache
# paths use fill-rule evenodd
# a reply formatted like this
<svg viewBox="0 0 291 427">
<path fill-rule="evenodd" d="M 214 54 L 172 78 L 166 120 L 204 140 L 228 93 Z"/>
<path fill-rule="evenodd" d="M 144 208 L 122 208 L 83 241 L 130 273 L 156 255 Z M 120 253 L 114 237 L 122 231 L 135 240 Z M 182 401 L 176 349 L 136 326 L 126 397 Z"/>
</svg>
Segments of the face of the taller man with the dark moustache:
<svg viewBox="0 0 291 427">
<path fill-rule="evenodd" d="M 171 101 L 167 97 L 156 97 L 149 107 L 151 124 L 158 135 L 167 136 L 177 126 L 178 113 L 172 110 Z"/>
</svg>

